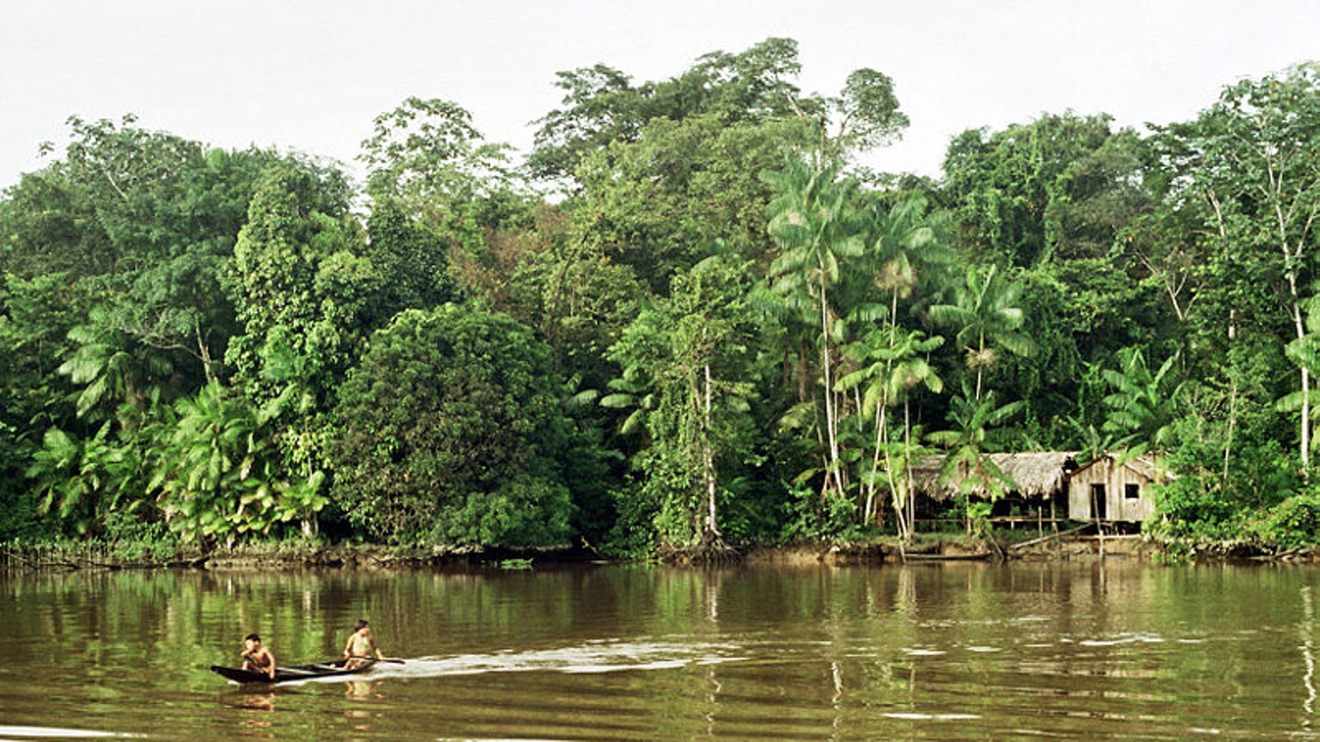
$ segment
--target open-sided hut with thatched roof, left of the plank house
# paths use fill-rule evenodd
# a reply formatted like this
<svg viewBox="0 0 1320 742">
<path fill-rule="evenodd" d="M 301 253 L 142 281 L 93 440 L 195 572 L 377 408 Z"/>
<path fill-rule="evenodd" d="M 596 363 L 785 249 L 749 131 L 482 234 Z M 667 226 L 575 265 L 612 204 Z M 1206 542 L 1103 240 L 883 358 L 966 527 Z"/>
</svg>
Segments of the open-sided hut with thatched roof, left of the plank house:
<svg viewBox="0 0 1320 742">
<path fill-rule="evenodd" d="M 1008 495 L 997 503 L 997 514 L 1007 514 L 1012 506 L 1019 506 L 1023 511 L 1030 508 L 1048 514 L 1051 518 L 1055 514 L 1063 516 L 1068 504 L 1068 473 L 1077 467 L 1077 462 L 1073 461 L 1074 455 L 1071 452 L 987 454 L 999 471 L 1014 483 L 1008 489 Z M 940 469 L 942 466 L 942 455 L 928 455 L 912 467 L 916 491 L 936 503 L 954 499 L 960 485 L 968 479 L 966 467 L 961 466 L 954 475 L 941 481 Z M 981 486 L 972 487 L 969 494 L 974 499 L 985 499 L 986 496 L 985 487 Z"/>
</svg>

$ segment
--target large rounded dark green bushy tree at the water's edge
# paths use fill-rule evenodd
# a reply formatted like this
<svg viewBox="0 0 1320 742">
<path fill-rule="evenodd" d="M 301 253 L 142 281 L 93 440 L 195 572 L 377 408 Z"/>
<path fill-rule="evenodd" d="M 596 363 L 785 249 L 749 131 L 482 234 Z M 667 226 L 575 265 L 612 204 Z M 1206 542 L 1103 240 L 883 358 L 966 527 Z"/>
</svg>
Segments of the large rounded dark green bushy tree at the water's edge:
<svg viewBox="0 0 1320 742">
<path fill-rule="evenodd" d="M 549 349 L 507 316 L 404 312 L 341 389 L 335 498 L 350 523 L 392 541 L 562 543 L 562 397 Z"/>
</svg>

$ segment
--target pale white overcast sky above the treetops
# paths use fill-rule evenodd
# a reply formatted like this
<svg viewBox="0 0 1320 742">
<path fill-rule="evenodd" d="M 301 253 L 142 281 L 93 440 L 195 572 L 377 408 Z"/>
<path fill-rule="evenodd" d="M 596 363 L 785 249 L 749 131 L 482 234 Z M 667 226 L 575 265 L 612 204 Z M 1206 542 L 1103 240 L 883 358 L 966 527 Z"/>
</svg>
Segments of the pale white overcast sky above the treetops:
<svg viewBox="0 0 1320 742">
<path fill-rule="evenodd" d="M 416 95 L 525 151 L 558 70 L 661 79 L 772 36 L 799 41 L 805 91 L 858 67 L 894 78 L 912 123 L 870 164 L 935 176 L 968 128 L 1193 118 L 1224 84 L 1320 58 L 1320 1 L 4 0 L 0 186 L 73 114 L 351 161 L 371 119 Z"/>
</svg>

